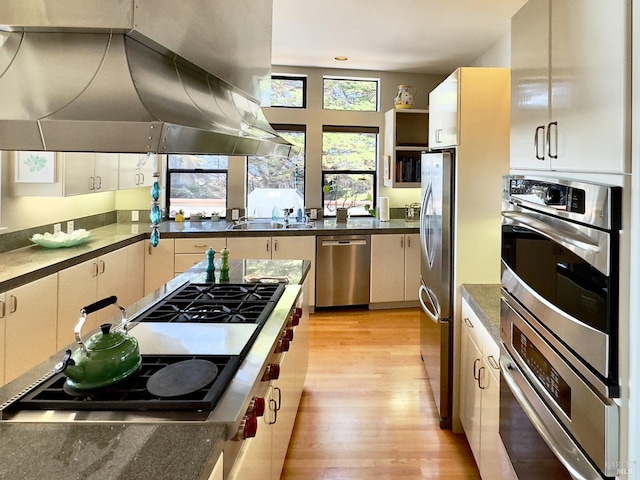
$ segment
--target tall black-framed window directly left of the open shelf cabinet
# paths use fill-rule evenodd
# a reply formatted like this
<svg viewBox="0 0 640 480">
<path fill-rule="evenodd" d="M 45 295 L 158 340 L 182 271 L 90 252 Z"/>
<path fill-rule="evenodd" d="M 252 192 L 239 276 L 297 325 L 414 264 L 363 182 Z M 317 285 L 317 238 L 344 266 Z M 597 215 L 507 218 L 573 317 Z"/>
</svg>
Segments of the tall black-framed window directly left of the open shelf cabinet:
<svg viewBox="0 0 640 480">
<path fill-rule="evenodd" d="M 378 127 L 324 126 L 322 134 L 322 203 L 325 216 L 345 207 L 350 215 L 367 215 L 373 207 L 378 158 Z"/>
</svg>

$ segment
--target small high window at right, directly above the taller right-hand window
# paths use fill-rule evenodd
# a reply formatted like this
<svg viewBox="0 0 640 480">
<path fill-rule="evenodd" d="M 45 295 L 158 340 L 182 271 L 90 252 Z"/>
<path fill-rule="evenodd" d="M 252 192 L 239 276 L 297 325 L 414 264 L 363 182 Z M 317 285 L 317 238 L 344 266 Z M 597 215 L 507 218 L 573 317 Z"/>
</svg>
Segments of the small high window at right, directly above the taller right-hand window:
<svg viewBox="0 0 640 480">
<path fill-rule="evenodd" d="M 322 108 L 377 112 L 378 83 L 376 79 L 324 77 Z"/>
</svg>

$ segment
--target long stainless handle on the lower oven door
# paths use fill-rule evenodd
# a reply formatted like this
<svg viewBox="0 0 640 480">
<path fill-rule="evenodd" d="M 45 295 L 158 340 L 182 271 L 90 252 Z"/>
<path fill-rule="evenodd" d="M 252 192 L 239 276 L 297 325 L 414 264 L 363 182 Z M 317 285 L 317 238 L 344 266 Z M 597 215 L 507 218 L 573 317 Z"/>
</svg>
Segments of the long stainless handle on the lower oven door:
<svg viewBox="0 0 640 480">
<path fill-rule="evenodd" d="M 528 384 L 515 362 L 508 354 L 504 354 L 504 350 L 500 356 L 500 371 L 502 378 L 504 378 L 529 420 L 531 420 L 532 425 L 558 460 L 569 471 L 572 478 L 575 480 L 602 478 L 602 474 L 589 463 L 585 455 L 569 437 L 569 434 L 564 431 L 560 422 L 547 410 L 544 402 L 538 398 L 538 394 Z M 522 377 L 521 381 L 518 381 L 514 374 Z M 531 399 L 540 404 L 539 409 L 542 412 L 539 412 L 539 409 L 533 405 Z"/>
</svg>

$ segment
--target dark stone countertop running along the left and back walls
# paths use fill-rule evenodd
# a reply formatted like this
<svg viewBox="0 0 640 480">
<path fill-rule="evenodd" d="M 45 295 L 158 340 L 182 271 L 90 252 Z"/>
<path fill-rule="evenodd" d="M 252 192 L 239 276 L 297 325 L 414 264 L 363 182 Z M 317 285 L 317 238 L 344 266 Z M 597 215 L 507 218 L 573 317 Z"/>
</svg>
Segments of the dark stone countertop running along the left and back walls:
<svg viewBox="0 0 640 480">
<path fill-rule="evenodd" d="M 159 226 L 160 241 L 162 242 L 162 238 L 393 234 L 420 231 L 418 222 L 404 220 L 381 222 L 374 218 L 350 219 L 344 224 L 336 223 L 335 220 L 318 220 L 315 222 L 315 228 L 291 230 L 226 230 L 231 223 L 164 221 Z M 91 239 L 75 247 L 47 249 L 32 245 L 0 253 L 0 292 L 26 285 L 65 268 L 148 239 L 150 231 L 150 226 L 145 223 L 114 223 L 92 229 Z"/>
</svg>

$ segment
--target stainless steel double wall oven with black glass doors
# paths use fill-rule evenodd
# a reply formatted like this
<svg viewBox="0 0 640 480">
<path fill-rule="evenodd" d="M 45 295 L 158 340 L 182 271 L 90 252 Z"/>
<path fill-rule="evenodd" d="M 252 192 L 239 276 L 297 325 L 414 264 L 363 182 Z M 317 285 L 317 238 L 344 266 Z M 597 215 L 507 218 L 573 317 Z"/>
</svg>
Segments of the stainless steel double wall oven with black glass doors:
<svg viewBox="0 0 640 480">
<path fill-rule="evenodd" d="M 618 465 L 622 189 L 503 184 L 500 435 L 519 480 Z"/>
</svg>

